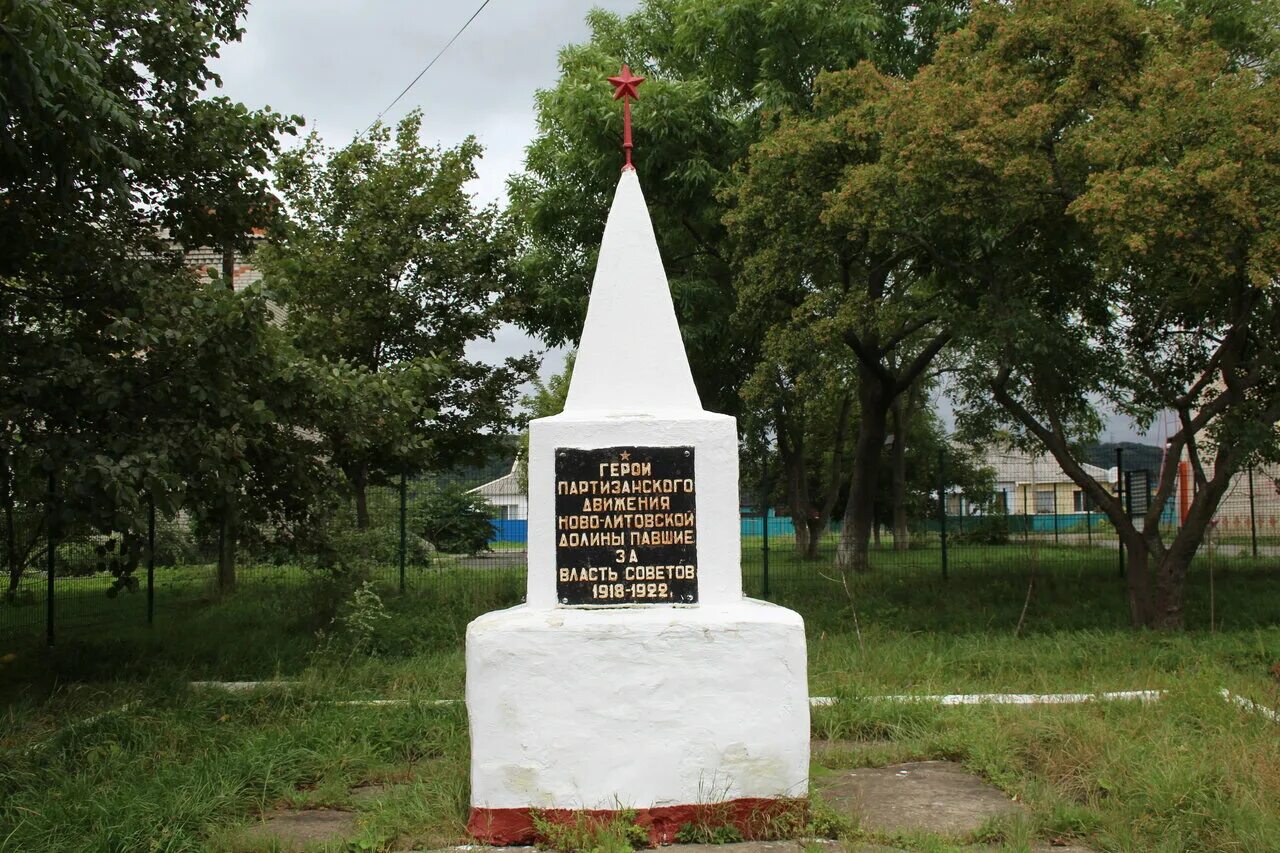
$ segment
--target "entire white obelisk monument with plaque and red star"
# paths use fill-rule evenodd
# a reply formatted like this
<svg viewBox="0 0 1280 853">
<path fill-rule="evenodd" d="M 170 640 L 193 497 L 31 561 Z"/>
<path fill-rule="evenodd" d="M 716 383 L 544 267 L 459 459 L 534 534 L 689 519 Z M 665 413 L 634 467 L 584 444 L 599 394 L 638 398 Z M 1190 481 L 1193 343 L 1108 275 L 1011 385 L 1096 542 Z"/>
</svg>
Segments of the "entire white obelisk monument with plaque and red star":
<svg viewBox="0 0 1280 853">
<path fill-rule="evenodd" d="M 804 625 L 742 596 L 735 421 L 701 407 L 631 168 L 529 503 L 527 602 L 467 628 L 472 835 L 631 808 L 669 841 L 700 806 L 805 797 Z"/>
</svg>

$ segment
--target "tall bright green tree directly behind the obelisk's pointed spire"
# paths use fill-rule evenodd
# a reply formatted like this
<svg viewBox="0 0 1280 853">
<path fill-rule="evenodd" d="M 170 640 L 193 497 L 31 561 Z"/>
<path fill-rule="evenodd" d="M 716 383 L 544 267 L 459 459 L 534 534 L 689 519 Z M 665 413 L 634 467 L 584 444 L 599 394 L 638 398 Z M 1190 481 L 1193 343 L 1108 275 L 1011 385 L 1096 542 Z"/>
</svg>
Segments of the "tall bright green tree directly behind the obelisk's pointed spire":
<svg viewBox="0 0 1280 853">
<path fill-rule="evenodd" d="M 561 78 L 538 95 L 539 134 L 512 179 L 527 323 L 548 343 L 581 329 L 595 251 L 621 167 L 621 111 L 607 74 L 623 60 L 648 82 L 632 108 L 635 163 L 703 402 L 737 414 L 758 361 L 744 329 L 723 214 L 733 165 L 780 109 L 804 109 L 823 69 L 879 55 L 908 73 L 954 26 L 963 4 L 808 0 L 646 0 L 634 14 L 593 10 L 590 38 L 561 53 Z"/>
</svg>

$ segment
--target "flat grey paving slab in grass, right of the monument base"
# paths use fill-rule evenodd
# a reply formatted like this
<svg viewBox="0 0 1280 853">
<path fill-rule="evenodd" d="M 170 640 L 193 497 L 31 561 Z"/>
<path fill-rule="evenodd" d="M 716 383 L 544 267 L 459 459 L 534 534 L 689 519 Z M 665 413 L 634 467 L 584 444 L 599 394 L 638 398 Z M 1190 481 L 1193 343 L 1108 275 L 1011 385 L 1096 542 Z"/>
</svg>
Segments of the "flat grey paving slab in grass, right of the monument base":
<svg viewBox="0 0 1280 853">
<path fill-rule="evenodd" d="M 951 761 L 836 772 L 817 784 L 832 806 L 877 833 L 966 835 L 1021 806 Z"/>
</svg>

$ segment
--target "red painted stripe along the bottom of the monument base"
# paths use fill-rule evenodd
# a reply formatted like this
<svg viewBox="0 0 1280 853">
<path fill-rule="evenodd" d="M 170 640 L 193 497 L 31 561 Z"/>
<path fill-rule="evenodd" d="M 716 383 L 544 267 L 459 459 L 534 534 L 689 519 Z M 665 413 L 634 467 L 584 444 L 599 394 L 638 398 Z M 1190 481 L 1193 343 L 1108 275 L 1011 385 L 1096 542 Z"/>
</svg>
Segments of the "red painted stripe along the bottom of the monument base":
<svg viewBox="0 0 1280 853">
<path fill-rule="evenodd" d="M 780 830 L 799 829 L 808 815 L 809 803 L 796 798 L 744 797 L 723 803 L 690 806 L 657 806 L 630 809 L 635 822 L 649 830 L 650 844 L 671 844 L 686 824 L 717 827 L 732 825 L 746 840 L 777 838 Z M 572 826 L 586 818 L 604 824 L 620 815 L 604 808 L 472 808 L 467 833 L 476 840 L 493 845 L 532 844 L 538 840 L 534 815 L 543 820 Z M 783 834 L 786 834 L 783 831 Z"/>
</svg>

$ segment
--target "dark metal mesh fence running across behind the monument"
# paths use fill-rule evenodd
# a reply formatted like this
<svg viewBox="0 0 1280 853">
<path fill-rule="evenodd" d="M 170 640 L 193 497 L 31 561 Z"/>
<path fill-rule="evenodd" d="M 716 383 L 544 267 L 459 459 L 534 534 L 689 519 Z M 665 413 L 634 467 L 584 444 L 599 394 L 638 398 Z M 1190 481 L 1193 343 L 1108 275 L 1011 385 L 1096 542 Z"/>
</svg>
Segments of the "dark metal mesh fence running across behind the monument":
<svg viewBox="0 0 1280 853">
<path fill-rule="evenodd" d="M 877 525 L 870 570 L 938 579 L 1041 569 L 1096 574 L 1114 567 L 1123 574 L 1124 552 L 1111 523 L 1080 500 L 1056 465 L 1016 455 L 1000 462 L 1000 501 L 979 506 L 943 478 L 918 502 L 905 537 Z M 1155 475 L 1134 476 L 1121 466 L 1111 474 L 1112 487 L 1130 489 L 1129 500 L 1135 484 L 1155 482 Z M 1212 532 L 1210 547 L 1217 555 L 1280 565 L 1276 474 L 1245 471 L 1235 478 Z M 0 602 L 0 639 L 56 643 L 70 631 L 180 619 L 225 592 L 218 579 L 216 535 L 187 514 L 151 512 L 146 528 L 132 534 L 54 529 L 50 535 L 54 502 L 56 494 L 46 506 L 19 507 L 24 523 L 8 526 L 27 533 L 22 542 L 4 543 L 5 553 L 20 555 L 23 564 Z M 334 573 L 356 573 L 387 592 L 433 590 L 465 610 L 521 601 L 529 523 L 527 497 L 515 471 L 486 482 L 393 478 L 369 487 L 366 506 L 365 524 L 357 523 L 353 501 L 342 507 L 323 542 L 244 530 L 236 587 L 291 589 Z M 777 503 L 742 510 L 746 593 L 769 598 L 837 581 L 838 520 L 805 555 L 796 547 L 792 520 L 777 510 Z M 1167 524 L 1176 526 L 1176 501 L 1167 515 Z"/>
</svg>

